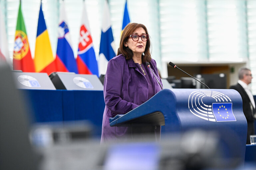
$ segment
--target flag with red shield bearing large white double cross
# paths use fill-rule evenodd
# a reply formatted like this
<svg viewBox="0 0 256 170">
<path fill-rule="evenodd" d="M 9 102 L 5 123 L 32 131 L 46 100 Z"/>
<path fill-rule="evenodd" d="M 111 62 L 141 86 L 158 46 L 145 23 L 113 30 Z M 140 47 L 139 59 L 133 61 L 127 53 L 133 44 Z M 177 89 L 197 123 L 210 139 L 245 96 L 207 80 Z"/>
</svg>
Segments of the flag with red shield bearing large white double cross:
<svg viewBox="0 0 256 170">
<path fill-rule="evenodd" d="M 90 32 L 85 3 L 82 15 L 82 25 L 80 27 L 80 37 L 77 54 L 78 73 L 95 74 L 99 76 L 98 63 L 93 48 L 93 39 Z"/>
</svg>

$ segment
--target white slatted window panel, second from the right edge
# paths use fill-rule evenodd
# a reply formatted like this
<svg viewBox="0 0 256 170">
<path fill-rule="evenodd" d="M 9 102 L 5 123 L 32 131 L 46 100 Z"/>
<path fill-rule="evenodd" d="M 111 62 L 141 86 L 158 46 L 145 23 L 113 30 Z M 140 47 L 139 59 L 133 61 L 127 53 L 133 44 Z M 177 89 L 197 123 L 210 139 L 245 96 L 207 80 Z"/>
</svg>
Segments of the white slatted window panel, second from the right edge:
<svg viewBox="0 0 256 170">
<path fill-rule="evenodd" d="M 248 60 L 245 0 L 208 0 L 209 61 Z"/>
</svg>

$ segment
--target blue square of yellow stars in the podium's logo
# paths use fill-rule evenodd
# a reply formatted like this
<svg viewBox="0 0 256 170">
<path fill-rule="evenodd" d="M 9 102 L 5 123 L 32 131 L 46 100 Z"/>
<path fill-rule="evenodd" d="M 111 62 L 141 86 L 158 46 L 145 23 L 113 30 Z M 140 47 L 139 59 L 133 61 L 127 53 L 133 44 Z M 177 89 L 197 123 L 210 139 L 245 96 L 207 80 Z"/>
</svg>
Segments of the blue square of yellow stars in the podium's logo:
<svg viewBox="0 0 256 170">
<path fill-rule="evenodd" d="M 236 121 L 232 111 L 232 103 L 213 103 L 212 112 L 217 122 Z"/>
</svg>

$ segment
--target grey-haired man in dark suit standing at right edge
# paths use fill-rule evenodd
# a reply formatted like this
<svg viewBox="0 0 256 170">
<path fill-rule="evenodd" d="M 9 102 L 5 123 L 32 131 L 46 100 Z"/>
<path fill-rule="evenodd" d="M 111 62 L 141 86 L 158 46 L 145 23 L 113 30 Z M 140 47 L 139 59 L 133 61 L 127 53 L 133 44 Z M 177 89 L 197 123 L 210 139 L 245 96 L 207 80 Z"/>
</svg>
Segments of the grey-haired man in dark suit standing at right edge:
<svg viewBox="0 0 256 170">
<path fill-rule="evenodd" d="M 238 71 L 239 80 L 236 85 L 230 86 L 230 89 L 234 89 L 239 92 L 243 101 L 243 112 L 247 120 L 247 140 L 246 144 L 250 144 L 250 135 L 255 134 L 254 132 L 254 119 L 255 115 L 255 101 L 248 85 L 252 81 L 251 70 L 242 67 Z"/>
</svg>

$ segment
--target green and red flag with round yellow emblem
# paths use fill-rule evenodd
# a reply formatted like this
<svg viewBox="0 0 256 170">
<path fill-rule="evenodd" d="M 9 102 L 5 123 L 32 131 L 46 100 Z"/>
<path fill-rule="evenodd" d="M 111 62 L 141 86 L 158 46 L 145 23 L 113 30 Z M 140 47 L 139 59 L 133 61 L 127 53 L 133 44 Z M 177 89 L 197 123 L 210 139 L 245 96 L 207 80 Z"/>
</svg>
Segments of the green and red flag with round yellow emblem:
<svg viewBox="0 0 256 170">
<path fill-rule="evenodd" d="M 27 32 L 21 12 L 21 3 L 15 33 L 13 69 L 22 70 L 23 72 L 35 72 L 34 61 L 31 57 Z"/>
</svg>

